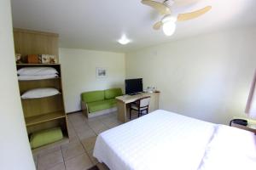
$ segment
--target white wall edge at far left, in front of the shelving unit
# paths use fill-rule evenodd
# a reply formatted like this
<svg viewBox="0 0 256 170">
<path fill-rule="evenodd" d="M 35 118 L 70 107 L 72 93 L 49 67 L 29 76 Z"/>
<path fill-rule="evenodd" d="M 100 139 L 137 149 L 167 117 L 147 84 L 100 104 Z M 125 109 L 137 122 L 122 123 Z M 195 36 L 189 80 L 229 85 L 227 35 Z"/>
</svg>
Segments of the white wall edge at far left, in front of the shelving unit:
<svg viewBox="0 0 256 170">
<path fill-rule="evenodd" d="M 10 1 L 0 1 L 0 169 L 33 170 L 32 152 L 22 113 Z"/>
</svg>

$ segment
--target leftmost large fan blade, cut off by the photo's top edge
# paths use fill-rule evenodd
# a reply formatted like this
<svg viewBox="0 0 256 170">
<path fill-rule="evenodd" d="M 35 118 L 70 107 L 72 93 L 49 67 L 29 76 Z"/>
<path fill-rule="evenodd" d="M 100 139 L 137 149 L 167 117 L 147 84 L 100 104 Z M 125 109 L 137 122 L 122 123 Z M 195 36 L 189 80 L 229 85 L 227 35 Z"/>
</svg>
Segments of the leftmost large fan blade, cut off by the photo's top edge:
<svg viewBox="0 0 256 170">
<path fill-rule="evenodd" d="M 171 9 L 163 3 L 155 2 L 152 0 L 142 0 L 142 3 L 155 8 L 160 14 L 171 14 Z"/>
</svg>

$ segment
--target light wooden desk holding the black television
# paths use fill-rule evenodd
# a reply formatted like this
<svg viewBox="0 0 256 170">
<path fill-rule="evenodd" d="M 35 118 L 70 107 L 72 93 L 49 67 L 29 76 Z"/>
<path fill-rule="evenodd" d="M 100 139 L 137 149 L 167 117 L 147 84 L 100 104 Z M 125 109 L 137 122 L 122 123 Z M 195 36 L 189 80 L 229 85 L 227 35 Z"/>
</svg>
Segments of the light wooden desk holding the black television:
<svg viewBox="0 0 256 170">
<path fill-rule="evenodd" d="M 150 96 L 148 113 L 159 109 L 159 95 L 160 93 L 143 93 L 137 95 L 123 95 L 116 97 L 117 107 L 118 107 L 118 120 L 120 122 L 127 122 L 127 105 L 136 101 L 137 99 L 142 99 L 144 97 Z"/>
</svg>

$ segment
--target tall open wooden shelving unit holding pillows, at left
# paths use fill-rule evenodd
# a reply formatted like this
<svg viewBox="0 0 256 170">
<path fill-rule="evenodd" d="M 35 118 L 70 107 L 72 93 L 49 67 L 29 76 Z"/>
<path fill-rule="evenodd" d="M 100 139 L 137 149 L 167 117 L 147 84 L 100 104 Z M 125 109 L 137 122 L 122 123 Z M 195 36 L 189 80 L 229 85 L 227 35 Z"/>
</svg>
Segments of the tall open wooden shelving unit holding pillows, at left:
<svg viewBox="0 0 256 170">
<path fill-rule="evenodd" d="M 15 29 L 15 52 L 26 56 L 27 54 L 54 54 L 58 56 L 58 35 L 40 31 L 26 31 Z M 60 94 L 38 99 L 21 99 L 23 113 L 26 122 L 28 136 L 31 133 L 53 127 L 61 127 L 65 143 L 68 141 L 67 116 L 65 113 L 61 85 L 60 64 L 17 64 L 17 70 L 23 67 L 53 67 L 59 73 L 59 77 L 19 81 L 20 95 L 33 88 L 56 88 Z M 55 142 L 61 144 L 61 141 Z M 47 144 L 45 148 L 54 144 Z M 35 150 L 40 150 L 37 148 Z M 34 151 L 34 150 L 33 150 Z"/>
</svg>

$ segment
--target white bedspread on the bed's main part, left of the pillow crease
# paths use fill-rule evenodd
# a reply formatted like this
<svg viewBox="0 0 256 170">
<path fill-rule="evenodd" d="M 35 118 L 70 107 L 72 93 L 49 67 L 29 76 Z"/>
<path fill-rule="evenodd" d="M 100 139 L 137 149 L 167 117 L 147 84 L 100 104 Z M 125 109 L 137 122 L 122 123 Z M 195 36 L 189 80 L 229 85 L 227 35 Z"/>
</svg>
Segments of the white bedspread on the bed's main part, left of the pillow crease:
<svg viewBox="0 0 256 170">
<path fill-rule="evenodd" d="M 194 170 L 214 130 L 210 122 L 158 110 L 101 133 L 93 155 L 111 170 Z"/>
</svg>

